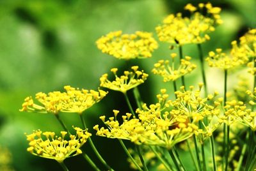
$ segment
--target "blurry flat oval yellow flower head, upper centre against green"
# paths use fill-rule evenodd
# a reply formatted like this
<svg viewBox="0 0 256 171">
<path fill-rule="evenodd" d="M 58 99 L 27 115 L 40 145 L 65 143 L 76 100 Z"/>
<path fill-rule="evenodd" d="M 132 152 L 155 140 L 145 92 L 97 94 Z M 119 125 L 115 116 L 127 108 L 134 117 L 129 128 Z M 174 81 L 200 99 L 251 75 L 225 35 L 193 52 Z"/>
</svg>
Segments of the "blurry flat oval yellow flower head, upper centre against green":
<svg viewBox="0 0 256 171">
<path fill-rule="evenodd" d="M 97 47 L 105 54 L 118 59 L 147 58 L 158 47 L 152 33 L 136 31 L 135 34 L 122 34 L 115 31 L 96 41 Z"/>
</svg>

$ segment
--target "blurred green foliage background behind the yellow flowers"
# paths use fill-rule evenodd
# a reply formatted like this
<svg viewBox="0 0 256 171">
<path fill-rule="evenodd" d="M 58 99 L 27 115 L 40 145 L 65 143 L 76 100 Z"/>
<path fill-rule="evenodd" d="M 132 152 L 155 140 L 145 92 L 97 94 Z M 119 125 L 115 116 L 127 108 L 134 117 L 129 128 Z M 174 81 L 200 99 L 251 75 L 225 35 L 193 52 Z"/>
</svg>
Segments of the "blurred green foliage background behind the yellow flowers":
<svg viewBox="0 0 256 171">
<path fill-rule="evenodd" d="M 15 170 L 61 170 L 56 161 L 38 158 L 26 151 L 28 143 L 24 133 L 40 128 L 42 131 L 60 131 L 61 126 L 53 115 L 19 112 L 26 96 L 40 91 L 63 91 L 64 85 L 84 89 L 97 89 L 99 77 L 110 68 L 127 68 L 127 63 L 102 54 L 95 41 L 110 31 L 122 30 L 153 32 L 157 24 L 170 13 L 184 11 L 186 3 L 180 0 L 10 0 L 0 1 L 0 145 L 12 153 Z M 207 1 L 191 1 L 193 4 Z M 224 24 L 204 43 L 205 54 L 221 47 L 230 48 L 248 28 L 256 26 L 255 0 L 210 1 L 220 6 Z M 175 52 L 175 50 L 173 50 Z M 159 59 L 167 59 L 170 50 L 166 43 L 150 59 L 132 60 L 146 73 Z M 184 46 L 184 54 L 198 63 L 195 45 Z M 186 77 L 190 84 L 200 81 L 199 67 Z M 219 73 L 213 73 L 218 75 Z M 208 80 L 211 78 L 207 77 Z M 193 81 L 192 81 L 193 80 Z M 210 87 L 219 83 L 210 84 Z M 154 96 L 163 84 L 162 78 L 150 74 L 139 87 L 143 100 L 154 103 Z M 122 94 L 109 91 L 104 100 L 86 111 L 90 131 L 99 124 L 99 116 L 111 115 L 112 110 L 128 112 Z M 61 114 L 65 123 L 81 126 L 76 114 Z M 116 140 L 93 136 L 102 156 L 115 170 L 131 170 L 120 144 Z M 130 145 L 127 143 L 127 145 Z M 86 145 L 88 146 L 88 145 Z M 88 154 L 93 156 L 90 147 Z M 1 151 L 0 151 L 1 152 Z M 96 160 L 96 159 L 95 159 Z M 47 164 L 45 164 L 47 163 Z M 65 160 L 70 170 L 92 170 L 81 156 Z M 99 163 L 99 167 L 103 168 Z"/>
</svg>

